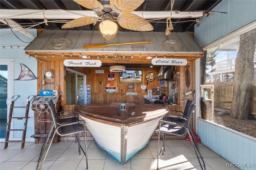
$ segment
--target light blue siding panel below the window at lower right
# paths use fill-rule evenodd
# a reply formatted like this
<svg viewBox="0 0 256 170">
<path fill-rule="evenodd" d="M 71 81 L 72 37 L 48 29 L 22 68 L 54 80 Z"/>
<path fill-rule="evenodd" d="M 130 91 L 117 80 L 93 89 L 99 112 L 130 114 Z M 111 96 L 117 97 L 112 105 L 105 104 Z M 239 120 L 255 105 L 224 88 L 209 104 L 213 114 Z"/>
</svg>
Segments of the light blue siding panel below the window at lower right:
<svg viewBox="0 0 256 170">
<path fill-rule="evenodd" d="M 256 138 L 198 118 L 196 132 L 202 144 L 232 163 L 256 163 Z M 204 155 L 203 155 L 204 156 Z M 247 164 L 245 164 L 247 163 Z M 255 170 L 255 167 L 240 167 Z"/>
</svg>

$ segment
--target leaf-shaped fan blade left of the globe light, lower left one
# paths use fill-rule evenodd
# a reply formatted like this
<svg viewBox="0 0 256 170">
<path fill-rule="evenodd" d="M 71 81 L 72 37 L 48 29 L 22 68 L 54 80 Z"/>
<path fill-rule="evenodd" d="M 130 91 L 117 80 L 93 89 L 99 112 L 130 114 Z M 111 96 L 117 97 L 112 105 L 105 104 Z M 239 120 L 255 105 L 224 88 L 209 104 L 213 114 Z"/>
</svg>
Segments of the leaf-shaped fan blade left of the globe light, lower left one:
<svg viewBox="0 0 256 170">
<path fill-rule="evenodd" d="M 66 29 L 66 28 L 75 28 L 75 27 L 80 27 L 80 26 L 86 26 L 89 24 L 93 24 L 95 22 L 95 20 L 98 20 L 98 18 L 92 17 L 92 16 L 83 16 L 80 18 L 76 18 L 70 22 L 67 22 L 61 28 Z"/>
</svg>

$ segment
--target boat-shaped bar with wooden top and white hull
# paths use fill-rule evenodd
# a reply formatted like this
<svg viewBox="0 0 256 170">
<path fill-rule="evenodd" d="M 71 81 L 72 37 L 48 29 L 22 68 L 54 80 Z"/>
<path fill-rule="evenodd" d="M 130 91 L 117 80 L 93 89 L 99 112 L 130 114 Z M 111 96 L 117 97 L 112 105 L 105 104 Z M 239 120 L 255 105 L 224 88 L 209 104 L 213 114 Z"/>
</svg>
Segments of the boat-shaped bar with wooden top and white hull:
<svg viewBox="0 0 256 170">
<path fill-rule="evenodd" d="M 125 164 L 132 156 L 148 144 L 150 137 L 158 127 L 160 119 L 168 113 L 168 106 L 154 106 L 146 105 L 147 108 L 143 108 L 142 106 L 136 108 L 131 107 L 130 110 L 138 114 L 136 116 L 130 116 L 128 112 L 128 115 L 120 116 L 118 113 L 114 113 L 115 108 L 111 108 L 113 115 L 109 116 L 110 114 L 107 113 L 112 110 L 107 111 L 108 108 L 105 107 L 104 109 L 103 107 L 102 109 L 107 112 L 105 113 L 95 106 L 92 106 L 90 108 L 91 110 L 88 107 L 80 107 L 80 110 L 77 109 L 76 111 L 78 113 L 79 111 L 82 112 L 79 113 L 80 117 L 85 120 L 86 127 L 94 137 L 96 144 L 118 162 Z M 156 111 L 150 111 L 149 107 L 152 109 L 155 108 Z M 92 114 L 94 109 L 97 111 Z M 87 114 L 84 110 L 90 110 L 91 112 Z M 140 112 L 141 110 L 147 111 Z M 122 119 L 119 117 L 122 117 Z"/>
</svg>

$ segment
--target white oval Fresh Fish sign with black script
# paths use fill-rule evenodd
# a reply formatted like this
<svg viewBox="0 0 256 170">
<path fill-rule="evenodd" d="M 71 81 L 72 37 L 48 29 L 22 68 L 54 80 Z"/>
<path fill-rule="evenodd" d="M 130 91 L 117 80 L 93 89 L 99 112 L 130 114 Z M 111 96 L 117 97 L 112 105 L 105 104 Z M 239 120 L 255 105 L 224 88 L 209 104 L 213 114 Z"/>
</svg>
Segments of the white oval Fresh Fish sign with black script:
<svg viewBox="0 0 256 170">
<path fill-rule="evenodd" d="M 64 65 L 67 67 L 100 67 L 101 61 L 98 59 L 65 59 Z"/>
</svg>

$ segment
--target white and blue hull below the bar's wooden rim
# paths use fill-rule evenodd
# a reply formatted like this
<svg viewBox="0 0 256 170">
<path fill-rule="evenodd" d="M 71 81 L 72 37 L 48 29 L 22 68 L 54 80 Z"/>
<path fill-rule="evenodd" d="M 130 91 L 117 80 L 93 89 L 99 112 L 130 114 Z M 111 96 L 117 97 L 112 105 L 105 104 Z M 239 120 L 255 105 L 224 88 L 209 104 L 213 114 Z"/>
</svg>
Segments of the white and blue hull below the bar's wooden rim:
<svg viewBox="0 0 256 170">
<path fill-rule="evenodd" d="M 82 118 L 86 121 L 86 127 L 92 133 L 96 144 L 118 162 L 125 164 L 148 144 L 162 117 L 138 125 L 121 127 Z"/>
</svg>

